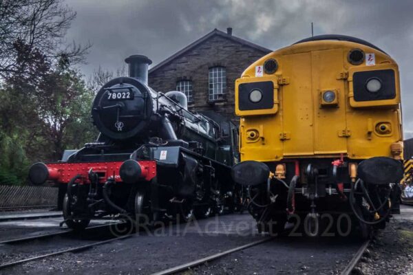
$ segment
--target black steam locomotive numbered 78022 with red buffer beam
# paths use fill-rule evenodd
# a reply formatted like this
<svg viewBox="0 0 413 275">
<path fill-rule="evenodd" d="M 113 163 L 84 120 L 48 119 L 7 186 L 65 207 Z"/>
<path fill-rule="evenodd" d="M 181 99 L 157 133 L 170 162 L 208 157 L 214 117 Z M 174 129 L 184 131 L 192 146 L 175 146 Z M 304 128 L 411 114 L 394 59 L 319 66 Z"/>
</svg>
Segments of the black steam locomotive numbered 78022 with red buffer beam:
<svg viewBox="0 0 413 275">
<path fill-rule="evenodd" d="M 188 111 L 179 91 L 153 91 L 146 56 L 125 62 L 129 77 L 110 80 L 94 98 L 98 140 L 66 151 L 61 162 L 33 164 L 32 183 L 67 186 L 63 216 L 76 229 L 109 214 L 188 220 L 237 208 L 242 190 L 230 176 L 238 159 L 235 125 Z"/>
</svg>

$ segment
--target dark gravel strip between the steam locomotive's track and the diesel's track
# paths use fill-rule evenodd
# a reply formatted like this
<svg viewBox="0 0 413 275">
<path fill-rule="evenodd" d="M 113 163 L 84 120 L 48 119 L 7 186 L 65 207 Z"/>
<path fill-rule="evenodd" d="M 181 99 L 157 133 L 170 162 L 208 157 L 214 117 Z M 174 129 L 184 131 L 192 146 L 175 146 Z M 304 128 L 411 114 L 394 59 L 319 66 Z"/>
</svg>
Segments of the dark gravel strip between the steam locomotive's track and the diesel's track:
<svg viewBox="0 0 413 275">
<path fill-rule="evenodd" d="M 150 274 L 248 243 L 240 236 L 133 236 L 3 270 L 4 274 Z M 0 271 L 1 273 L 1 271 Z"/>
</svg>

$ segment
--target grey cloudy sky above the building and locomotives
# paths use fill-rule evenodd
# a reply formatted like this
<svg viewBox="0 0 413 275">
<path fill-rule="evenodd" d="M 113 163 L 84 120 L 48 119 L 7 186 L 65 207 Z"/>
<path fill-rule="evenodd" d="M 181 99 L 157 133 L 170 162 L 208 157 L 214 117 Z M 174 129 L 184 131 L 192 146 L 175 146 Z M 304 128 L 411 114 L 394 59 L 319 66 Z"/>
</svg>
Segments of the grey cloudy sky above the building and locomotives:
<svg viewBox="0 0 413 275">
<path fill-rule="evenodd" d="M 413 137 L 413 1 L 67 0 L 77 18 L 67 41 L 93 44 L 89 76 L 116 70 L 130 54 L 153 65 L 214 28 L 277 50 L 311 34 L 346 34 L 390 54 L 401 71 L 405 137 Z"/>
</svg>

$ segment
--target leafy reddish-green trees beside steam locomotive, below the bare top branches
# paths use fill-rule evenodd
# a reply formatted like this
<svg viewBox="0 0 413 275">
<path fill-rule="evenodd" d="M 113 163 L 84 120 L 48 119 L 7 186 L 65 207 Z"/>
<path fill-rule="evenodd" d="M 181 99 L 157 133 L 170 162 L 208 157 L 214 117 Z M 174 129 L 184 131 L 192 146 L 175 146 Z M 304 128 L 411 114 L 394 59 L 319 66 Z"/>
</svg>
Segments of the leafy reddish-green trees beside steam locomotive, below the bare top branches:
<svg viewBox="0 0 413 275">
<path fill-rule="evenodd" d="M 22 182 L 28 164 L 59 160 L 66 148 L 96 138 L 90 120 L 94 92 L 81 74 L 63 61 L 52 65 L 39 50 L 20 48 L 18 70 L 0 89 L 0 184 Z"/>
</svg>

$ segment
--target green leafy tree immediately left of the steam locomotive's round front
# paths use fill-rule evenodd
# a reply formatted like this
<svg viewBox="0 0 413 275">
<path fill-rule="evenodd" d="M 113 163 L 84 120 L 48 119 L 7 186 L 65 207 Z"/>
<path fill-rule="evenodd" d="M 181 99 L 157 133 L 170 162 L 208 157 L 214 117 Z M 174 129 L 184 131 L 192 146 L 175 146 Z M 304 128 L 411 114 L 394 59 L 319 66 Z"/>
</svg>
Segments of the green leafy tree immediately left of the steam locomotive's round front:
<svg viewBox="0 0 413 275">
<path fill-rule="evenodd" d="M 93 96 L 74 69 L 56 69 L 39 85 L 39 118 L 47 124 L 45 136 L 53 142 L 50 157 L 59 159 L 68 146 L 78 148 L 93 140 Z"/>
</svg>

